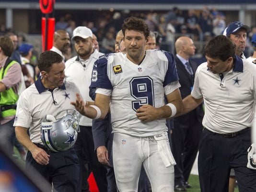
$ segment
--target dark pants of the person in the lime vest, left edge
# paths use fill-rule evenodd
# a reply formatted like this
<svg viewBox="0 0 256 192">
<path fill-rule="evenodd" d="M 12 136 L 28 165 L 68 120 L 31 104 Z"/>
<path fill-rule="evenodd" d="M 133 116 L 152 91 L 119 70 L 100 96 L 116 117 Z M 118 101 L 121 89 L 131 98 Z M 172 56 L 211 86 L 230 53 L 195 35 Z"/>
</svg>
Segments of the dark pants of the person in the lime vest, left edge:
<svg viewBox="0 0 256 192">
<path fill-rule="evenodd" d="M 0 145 L 6 153 L 12 156 L 15 142 L 14 118 L 6 124 L 0 124 Z"/>
</svg>

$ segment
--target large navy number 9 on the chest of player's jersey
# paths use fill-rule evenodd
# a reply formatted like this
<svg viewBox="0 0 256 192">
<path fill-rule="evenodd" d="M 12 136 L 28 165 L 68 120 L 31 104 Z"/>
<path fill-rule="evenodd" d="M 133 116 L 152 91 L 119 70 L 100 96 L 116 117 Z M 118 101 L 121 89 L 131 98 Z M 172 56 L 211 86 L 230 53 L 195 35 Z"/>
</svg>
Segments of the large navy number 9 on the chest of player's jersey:
<svg viewBox="0 0 256 192">
<path fill-rule="evenodd" d="M 153 79 L 148 76 L 134 77 L 130 81 L 131 96 L 136 99 L 132 102 L 132 109 L 136 111 L 141 105 L 154 106 Z"/>
</svg>

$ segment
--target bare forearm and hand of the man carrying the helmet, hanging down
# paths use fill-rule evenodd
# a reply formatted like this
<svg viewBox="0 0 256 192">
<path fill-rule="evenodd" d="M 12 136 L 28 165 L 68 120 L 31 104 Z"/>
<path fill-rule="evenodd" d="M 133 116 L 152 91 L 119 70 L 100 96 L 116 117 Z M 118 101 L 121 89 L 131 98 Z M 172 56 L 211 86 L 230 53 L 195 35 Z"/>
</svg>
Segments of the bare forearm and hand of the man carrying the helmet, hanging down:
<svg viewBox="0 0 256 192">
<path fill-rule="evenodd" d="M 37 163 L 41 165 L 47 165 L 49 163 L 50 156 L 46 153 L 44 149 L 39 148 L 34 143 L 32 143 L 27 134 L 27 128 L 22 126 L 16 126 L 15 134 L 19 142 L 31 152 L 32 157 Z"/>
</svg>

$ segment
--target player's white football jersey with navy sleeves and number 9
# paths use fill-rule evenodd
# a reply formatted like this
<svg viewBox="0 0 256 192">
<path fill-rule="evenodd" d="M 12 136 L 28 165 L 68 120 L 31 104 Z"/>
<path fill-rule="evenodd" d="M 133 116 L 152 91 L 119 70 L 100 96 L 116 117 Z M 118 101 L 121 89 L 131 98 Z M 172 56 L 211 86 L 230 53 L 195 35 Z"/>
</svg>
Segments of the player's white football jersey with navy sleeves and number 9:
<svg viewBox="0 0 256 192">
<path fill-rule="evenodd" d="M 147 50 L 140 65 L 131 62 L 126 54 L 114 53 L 99 58 L 93 66 L 91 87 L 97 88 L 96 93 L 111 96 L 113 133 L 147 137 L 167 131 L 165 119 L 144 123 L 136 116 L 142 105 L 165 105 L 167 85 L 171 86 L 170 92 L 180 87 L 175 59 L 169 52 Z"/>
</svg>

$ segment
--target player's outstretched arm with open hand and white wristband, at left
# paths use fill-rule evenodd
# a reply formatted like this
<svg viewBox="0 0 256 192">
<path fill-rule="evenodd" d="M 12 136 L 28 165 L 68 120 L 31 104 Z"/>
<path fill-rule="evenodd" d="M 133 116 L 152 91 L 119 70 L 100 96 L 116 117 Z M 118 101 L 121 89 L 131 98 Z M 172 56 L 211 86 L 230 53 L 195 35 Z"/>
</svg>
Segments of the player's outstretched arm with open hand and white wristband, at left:
<svg viewBox="0 0 256 192">
<path fill-rule="evenodd" d="M 82 115 L 91 119 L 104 119 L 108 112 L 110 96 L 96 93 L 94 105 L 84 103 L 81 96 L 76 94 L 76 101 L 71 102 L 75 106 L 76 110 Z"/>
</svg>

